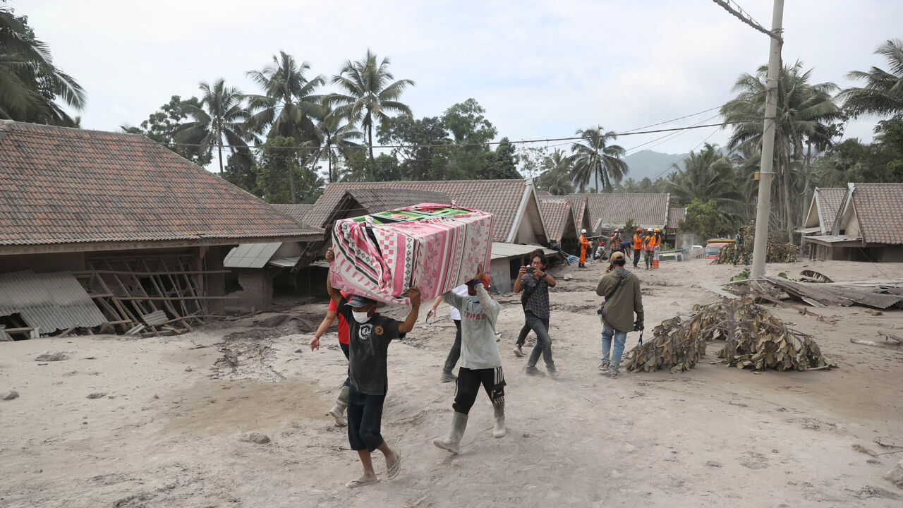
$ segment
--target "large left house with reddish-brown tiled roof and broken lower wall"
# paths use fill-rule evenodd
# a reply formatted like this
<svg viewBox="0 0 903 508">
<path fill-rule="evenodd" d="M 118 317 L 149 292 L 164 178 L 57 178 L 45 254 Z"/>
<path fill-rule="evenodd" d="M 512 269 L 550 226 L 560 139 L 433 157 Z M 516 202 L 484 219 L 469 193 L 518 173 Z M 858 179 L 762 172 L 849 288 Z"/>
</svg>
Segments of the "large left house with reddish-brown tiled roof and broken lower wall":
<svg viewBox="0 0 903 508">
<path fill-rule="evenodd" d="M 0 120 L 0 339 L 185 331 L 232 246 L 321 236 L 144 136 Z"/>
</svg>

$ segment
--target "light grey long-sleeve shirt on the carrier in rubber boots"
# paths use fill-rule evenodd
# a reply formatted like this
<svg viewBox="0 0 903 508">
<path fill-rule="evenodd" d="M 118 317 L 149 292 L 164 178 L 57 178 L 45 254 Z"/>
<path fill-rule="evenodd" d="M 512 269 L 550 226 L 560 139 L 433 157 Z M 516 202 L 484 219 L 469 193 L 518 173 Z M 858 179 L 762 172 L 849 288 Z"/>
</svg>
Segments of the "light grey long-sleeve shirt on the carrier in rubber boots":
<svg viewBox="0 0 903 508">
<path fill-rule="evenodd" d="M 467 369 L 495 369 L 502 364 L 496 343 L 496 320 L 501 306 L 493 300 L 482 284 L 475 287 L 479 302 L 470 296 L 453 291 L 442 295 L 450 306 L 461 311 L 461 367 Z"/>
</svg>

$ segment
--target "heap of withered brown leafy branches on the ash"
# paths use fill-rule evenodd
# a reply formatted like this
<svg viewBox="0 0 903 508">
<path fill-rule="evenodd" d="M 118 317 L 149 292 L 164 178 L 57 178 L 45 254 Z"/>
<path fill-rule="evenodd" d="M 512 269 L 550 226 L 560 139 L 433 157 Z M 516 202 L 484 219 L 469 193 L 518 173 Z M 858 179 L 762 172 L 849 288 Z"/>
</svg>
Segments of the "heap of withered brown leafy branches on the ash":
<svg viewBox="0 0 903 508">
<path fill-rule="evenodd" d="M 810 335 L 791 330 L 752 298 L 724 298 L 694 306 L 693 311 L 685 320 L 678 316 L 657 325 L 651 340 L 627 353 L 625 368 L 633 372 L 686 371 L 714 340 L 727 341 L 716 355 L 739 369 L 806 371 L 836 366 Z"/>
</svg>

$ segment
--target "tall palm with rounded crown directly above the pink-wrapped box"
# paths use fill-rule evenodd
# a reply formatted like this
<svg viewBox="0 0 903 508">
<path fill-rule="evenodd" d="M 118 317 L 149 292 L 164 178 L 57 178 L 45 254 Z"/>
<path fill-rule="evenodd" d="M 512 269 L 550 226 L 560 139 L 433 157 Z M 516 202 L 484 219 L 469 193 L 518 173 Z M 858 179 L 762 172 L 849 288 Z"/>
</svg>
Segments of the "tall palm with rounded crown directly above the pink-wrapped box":
<svg viewBox="0 0 903 508">
<path fill-rule="evenodd" d="M 348 118 L 351 123 L 360 122 L 367 134 L 371 179 L 376 174 L 373 159 L 374 120 L 385 121 L 389 118 L 387 113 L 411 114 L 411 108 L 399 102 L 398 98 L 407 87 L 414 86 L 414 81 L 395 80 L 388 66 L 388 58 L 377 61 L 377 55 L 367 50 L 363 60 L 345 61 L 340 73 L 332 78 L 332 83 L 345 92 L 330 96 L 330 103 L 339 105 L 336 113 Z"/>
</svg>

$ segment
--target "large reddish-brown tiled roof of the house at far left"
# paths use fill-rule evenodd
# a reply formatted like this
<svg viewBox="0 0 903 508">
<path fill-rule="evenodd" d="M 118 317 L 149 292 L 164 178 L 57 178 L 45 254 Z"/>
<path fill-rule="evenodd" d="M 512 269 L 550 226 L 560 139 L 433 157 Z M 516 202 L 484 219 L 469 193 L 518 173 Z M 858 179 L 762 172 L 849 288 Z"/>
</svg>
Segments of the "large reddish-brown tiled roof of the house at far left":
<svg viewBox="0 0 903 508">
<path fill-rule="evenodd" d="M 144 136 L 0 121 L 0 246 L 319 234 Z"/>
</svg>

